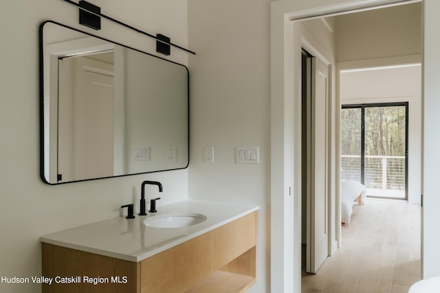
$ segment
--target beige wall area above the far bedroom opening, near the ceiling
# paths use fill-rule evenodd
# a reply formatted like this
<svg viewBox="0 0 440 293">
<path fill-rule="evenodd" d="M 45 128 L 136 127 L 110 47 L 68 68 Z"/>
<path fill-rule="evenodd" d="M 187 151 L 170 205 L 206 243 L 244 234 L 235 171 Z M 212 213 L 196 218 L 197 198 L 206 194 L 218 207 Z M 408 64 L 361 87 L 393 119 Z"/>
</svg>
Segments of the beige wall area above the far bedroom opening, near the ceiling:
<svg viewBox="0 0 440 293">
<path fill-rule="evenodd" d="M 336 61 L 421 53 L 421 3 L 335 17 Z"/>
</svg>

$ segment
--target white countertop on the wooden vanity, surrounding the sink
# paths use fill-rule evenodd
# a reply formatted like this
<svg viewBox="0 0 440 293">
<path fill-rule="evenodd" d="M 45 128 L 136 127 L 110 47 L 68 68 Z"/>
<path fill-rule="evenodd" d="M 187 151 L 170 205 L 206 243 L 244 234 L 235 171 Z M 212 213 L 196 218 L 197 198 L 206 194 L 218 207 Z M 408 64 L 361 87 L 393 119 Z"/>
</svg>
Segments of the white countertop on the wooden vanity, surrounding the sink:
<svg viewBox="0 0 440 293">
<path fill-rule="evenodd" d="M 258 209 L 258 206 L 186 200 L 157 206 L 157 213 L 147 211 L 148 215 L 135 215 L 135 219 L 115 217 L 45 235 L 40 241 L 137 262 Z M 205 215 L 207 219 L 193 226 L 171 229 L 153 228 L 143 224 L 148 217 L 167 213 L 198 213 Z"/>
</svg>

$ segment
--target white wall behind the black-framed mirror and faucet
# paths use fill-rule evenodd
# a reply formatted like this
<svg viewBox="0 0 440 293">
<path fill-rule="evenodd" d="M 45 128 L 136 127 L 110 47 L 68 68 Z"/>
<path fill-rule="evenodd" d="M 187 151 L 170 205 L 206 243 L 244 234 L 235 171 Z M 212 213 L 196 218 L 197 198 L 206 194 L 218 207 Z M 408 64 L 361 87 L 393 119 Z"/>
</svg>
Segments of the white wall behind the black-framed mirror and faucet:
<svg viewBox="0 0 440 293">
<path fill-rule="evenodd" d="M 93 3 L 104 14 L 187 45 L 186 1 Z M 43 184 L 39 177 L 38 28 L 47 19 L 155 52 L 153 40 L 109 21 L 103 20 L 98 32 L 78 25 L 78 10 L 61 0 L 0 2 L 0 276 L 41 276 L 41 235 L 120 215 L 120 206 L 140 194 L 142 180 L 162 182 L 160 204 L 188 197 L 187 170 L 61 186 Z M 186 53 L 171 52 L 173 60 L 187 62 Z M 147 187 L 147 195 L 157 192 L 154 187 Z M 0 291 L 6 293 L 40 290 L 39 285 L 0 283 Z"/>
</svg>

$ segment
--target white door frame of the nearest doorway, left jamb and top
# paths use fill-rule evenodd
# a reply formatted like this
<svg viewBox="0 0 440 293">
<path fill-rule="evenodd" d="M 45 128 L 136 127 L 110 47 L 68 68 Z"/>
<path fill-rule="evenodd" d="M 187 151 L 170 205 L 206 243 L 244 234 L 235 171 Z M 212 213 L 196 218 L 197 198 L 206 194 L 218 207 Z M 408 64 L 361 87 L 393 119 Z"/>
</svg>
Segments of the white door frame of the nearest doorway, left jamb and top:
<svg viewBox="0 0 440 293">
<path fill-rule="evenodd" d="M 419 0 L 345 1 L 322 7 L 313 7 L 312 3 L 308 6 L 311 9 L 305 9 L 303 2 L 292 0 L 271 3 L 272 292 L 300 292 L 301 287 L 301 41 L 293 20 L 322 17 L 322 14 L 347 10 L 385 7 L 398 2 L 412 3 Z"/>
</svg>

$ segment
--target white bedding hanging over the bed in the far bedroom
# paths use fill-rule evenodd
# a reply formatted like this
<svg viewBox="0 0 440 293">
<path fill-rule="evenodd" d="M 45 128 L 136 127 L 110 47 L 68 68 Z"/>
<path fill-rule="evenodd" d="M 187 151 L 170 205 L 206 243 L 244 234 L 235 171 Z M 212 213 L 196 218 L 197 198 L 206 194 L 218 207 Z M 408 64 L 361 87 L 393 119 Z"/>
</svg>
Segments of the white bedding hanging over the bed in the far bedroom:
<svg viewBox="0 0 440 293">
<path fill-rule="evenodd" d="M 341 221 L 350 224 L 355 199 L 361 195 L 362 204 L 366 201 L 366 187 L 353 180 L 341 180 Z"/>
</svg>

